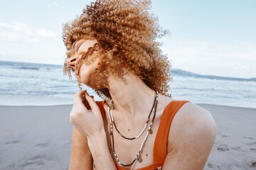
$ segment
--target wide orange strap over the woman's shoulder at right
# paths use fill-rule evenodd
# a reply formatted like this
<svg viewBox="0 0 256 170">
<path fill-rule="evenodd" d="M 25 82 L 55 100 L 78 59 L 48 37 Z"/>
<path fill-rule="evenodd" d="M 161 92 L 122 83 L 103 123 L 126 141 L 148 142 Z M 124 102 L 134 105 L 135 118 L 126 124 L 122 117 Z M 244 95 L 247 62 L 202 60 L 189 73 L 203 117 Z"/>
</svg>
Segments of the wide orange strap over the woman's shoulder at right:
<svg viewBox="0 0 256 170">
<path fill-rule="evenodd" d="M 154 142 L 154 163 L 163 162 L 168 152 L 168 138 L 171 122 L 178 110 L 188 101 L 171 101 L 161 115 L 161 122 Z"/>
</svg>

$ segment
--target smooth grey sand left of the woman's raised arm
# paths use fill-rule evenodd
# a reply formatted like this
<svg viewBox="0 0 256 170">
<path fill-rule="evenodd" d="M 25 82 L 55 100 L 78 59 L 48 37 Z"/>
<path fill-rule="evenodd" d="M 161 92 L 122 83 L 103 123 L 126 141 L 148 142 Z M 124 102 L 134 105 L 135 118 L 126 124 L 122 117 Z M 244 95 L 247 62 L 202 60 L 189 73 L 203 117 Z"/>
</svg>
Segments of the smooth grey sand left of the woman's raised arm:
<svg viewBox="0 0 256 170">
<path fill-rule="evenodd" d="M 68 169 L 72 106 L 1 106 L 0 169 Z"/>
</svg>

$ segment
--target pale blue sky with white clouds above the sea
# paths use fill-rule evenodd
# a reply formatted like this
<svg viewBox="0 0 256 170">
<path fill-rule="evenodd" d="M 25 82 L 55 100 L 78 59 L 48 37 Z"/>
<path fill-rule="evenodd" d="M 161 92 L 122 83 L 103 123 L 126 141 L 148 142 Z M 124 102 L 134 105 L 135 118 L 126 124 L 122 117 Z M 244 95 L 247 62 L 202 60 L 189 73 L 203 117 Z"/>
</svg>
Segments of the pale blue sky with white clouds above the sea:
<svg viewBox="0 0 256 170">
<path fill-rule="evenodd" d="M 0 1 L 0 60 L 63 64 L 62 23 L 90 1 Z M 169 30 L 172 66 L 199 74 L 256 77 L 255 0 L 153 0 Z"/>
</svg>

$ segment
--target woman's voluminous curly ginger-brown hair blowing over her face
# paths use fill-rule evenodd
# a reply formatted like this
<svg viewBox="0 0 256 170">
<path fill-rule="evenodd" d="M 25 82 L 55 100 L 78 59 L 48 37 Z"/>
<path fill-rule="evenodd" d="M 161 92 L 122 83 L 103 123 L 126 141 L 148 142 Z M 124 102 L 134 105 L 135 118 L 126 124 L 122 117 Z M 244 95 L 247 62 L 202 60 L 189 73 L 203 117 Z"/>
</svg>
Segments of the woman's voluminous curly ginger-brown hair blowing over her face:
<svg viewBox="0 0 256 170">
<path fill-rule="evenodd" d="M 126 69 L 136 74 L 149 88 L 165 96 L 171 80 L 170 62 L 160 49 L 156 38 L 166 34 L 158 24 L 158 18 L 150 12 L 150 0 L 96 0 L 86 6 L 82 14 L 71 23 L 63 25 L 63 41 L 67 57 L 73 53 L 73 43 L 80 39 L 97 40 L 97 44 L 82 54 L 75 69 L 64 64 L 64 74 L 70 70 L 79 74 L 81 64 L 90 64 L 100 57 L 95 79 L 100 82 L 103 68 L 124 79 Z M 122 68 L 117 69 L 122 65 Z M 78 79 L 80 84 L 80 79 Z M 110 98 L 107 89 L 97 89 Z"/>
</svg>

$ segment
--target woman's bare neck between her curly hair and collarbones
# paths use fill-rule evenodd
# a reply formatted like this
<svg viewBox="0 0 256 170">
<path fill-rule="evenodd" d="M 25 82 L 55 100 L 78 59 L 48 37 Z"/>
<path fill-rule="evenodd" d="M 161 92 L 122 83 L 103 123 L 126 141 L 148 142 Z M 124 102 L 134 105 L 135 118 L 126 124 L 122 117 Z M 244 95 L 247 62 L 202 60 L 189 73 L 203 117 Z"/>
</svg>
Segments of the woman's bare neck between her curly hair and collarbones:
<svg viewBox="0 0 256 170">
<path fill-rule="evenodd" d="M 155 91 L 134 74 L 124 75 L 124 79 L 110 76 L 109 91 L 114 102 L 114 111 L 126 120 L 134 120 L 137 116 L 149 113 L 154 103 Z"/>
</svg>

